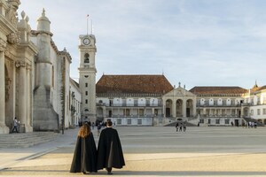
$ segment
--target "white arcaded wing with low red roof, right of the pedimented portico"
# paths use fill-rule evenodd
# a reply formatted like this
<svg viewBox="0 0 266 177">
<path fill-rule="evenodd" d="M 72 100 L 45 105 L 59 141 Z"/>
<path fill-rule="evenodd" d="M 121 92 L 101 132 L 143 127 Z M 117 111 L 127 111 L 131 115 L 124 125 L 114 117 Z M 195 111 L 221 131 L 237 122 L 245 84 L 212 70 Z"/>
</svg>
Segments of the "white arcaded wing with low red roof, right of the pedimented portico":
<svg viewBox="0 0 266 177">
<path fill-rule="evenodd" d="M 239 87 L 194 87 L 200 124 L 207 126 L 242 125 L 241 104 L 246 89 Z"/>
</svg>

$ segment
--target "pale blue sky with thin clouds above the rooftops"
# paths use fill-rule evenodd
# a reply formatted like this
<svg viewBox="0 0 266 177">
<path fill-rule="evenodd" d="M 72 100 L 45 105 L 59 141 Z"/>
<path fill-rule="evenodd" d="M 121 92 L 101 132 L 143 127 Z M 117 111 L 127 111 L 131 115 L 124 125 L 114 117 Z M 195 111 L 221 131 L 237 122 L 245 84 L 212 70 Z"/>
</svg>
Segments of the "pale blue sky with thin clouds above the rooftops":
<svg viewBox="0 0 266 177">
<path fill-rule="evenodd" d="M 176 87 L 266 85 L 264 0 L 20 0 L 29 24 L 43 8 L 52 39 L 79 77 L 79 35 L 97 40 L 103 74 L 164 74 Z"/>
</svg>

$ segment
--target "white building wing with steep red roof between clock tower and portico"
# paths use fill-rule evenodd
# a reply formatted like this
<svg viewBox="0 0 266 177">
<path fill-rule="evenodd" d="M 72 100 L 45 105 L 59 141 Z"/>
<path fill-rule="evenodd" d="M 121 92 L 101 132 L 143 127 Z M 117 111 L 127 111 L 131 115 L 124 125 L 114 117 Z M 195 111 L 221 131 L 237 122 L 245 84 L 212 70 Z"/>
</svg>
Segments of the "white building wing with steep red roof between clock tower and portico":
<svg viewBox="0 0 266 177">
<path fill-rule="evenodd" d="M 165 116 L 162 96 L 172 89 L 164 75 L 103 75 L 96 85 L 98 120 L 153 126 Z"/>
</svg>

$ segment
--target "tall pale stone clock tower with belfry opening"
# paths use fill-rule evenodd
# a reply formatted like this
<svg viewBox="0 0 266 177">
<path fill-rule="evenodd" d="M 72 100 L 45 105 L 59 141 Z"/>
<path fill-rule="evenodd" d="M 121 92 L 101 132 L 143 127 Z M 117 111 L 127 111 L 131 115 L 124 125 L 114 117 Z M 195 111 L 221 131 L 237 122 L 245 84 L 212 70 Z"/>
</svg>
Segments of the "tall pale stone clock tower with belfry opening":
<svg viewBox="0 0 266 177">
<path fill-rule="evenodd" d="M 80 35 L 80 89 L 82 92 L 82 121 L 96 121 L 96 39 L 94 35 Z"/>
</svg>

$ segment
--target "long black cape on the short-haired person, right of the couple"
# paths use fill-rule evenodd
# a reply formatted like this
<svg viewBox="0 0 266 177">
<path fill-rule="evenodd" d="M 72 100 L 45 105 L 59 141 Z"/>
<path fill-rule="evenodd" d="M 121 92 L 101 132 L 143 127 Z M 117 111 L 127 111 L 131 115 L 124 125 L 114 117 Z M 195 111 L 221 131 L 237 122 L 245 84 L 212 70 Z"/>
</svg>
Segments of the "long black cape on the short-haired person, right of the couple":
<svg viewBox="0 0 266 177">
<path fill-rule="evenodd" d="M 125 165 L 121 142 L 116 129 L 106 127 L 98 140 L 98 170 L 106 167 L 122 168 Z"/>
</svg>

